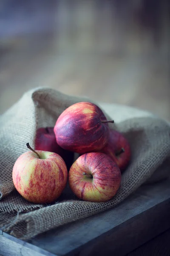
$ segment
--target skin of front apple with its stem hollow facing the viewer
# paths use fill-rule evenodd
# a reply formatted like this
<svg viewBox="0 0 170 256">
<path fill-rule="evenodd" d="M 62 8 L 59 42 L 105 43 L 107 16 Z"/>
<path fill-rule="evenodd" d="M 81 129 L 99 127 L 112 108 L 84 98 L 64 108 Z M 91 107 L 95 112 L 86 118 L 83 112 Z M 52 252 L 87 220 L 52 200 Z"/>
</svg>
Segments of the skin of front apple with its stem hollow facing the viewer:
<svg viewBox="0 0 170 256">
<path fill-rule="evenodd" d="M 92 175 L 93 178 L 83 175 Z M 68 173 L 71 190 L 85 201 L 105 202 L 119 189 L 121 172 L 111 157 L 99 152 L 81 155 Z"/>
</svg>

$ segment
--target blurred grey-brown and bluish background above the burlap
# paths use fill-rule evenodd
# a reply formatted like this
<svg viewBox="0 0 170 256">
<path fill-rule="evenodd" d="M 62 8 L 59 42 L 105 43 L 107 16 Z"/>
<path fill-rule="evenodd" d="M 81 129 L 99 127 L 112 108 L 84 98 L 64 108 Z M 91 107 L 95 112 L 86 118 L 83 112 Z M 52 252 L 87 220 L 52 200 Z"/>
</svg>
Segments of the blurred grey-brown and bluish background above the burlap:
<svg viewBox="0 0 170 256">
<path fill-rule="evenodd" d="M 0 113 L 33 87 L 170 121 L 168 0 L 0 0 Z"/>
</svg>

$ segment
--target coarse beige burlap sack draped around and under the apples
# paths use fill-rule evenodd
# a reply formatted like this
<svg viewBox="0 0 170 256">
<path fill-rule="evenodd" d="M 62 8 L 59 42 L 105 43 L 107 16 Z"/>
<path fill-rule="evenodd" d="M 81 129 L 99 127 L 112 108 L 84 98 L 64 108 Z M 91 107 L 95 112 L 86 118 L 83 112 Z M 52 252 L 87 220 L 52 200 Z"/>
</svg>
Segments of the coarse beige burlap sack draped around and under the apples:
<svg viewBox="0 0 170 256">
<path fill-rule="evenodd" d="M 52 205 L 32 204 L 14 189 L 12 168 L 29 142 L 34 148 L 35 131 L 54 126 L 68 106 L 88 99 L 67 96 L 52 89 L 34 89 L 0 116 L 0 227 L 21 239 L 29 239 L 51 228 L 85 218 L 116 206 L 142 183 L 161 180 L 169 175 L 170 126 L 148 113 L 111 105 L 105 110 L 109 119 L 117 119 L 112 128 L 129 140 L 132 159 L 122 175 L 116 196 L 105 203 L 77 200 L 67 185 Z M 154 173 L 156 175 L 154 175 Z"/>
</svg>

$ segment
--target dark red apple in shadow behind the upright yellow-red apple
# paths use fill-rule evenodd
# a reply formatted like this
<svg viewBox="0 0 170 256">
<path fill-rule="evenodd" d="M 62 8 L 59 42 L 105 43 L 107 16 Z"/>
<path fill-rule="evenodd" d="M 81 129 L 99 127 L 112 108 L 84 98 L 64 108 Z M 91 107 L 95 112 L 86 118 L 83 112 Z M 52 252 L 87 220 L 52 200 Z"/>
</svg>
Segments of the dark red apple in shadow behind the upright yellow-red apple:
<svg viewBox="0 0 170 256">
<path fill-rule="evenodd" d="M 54 127 L 39 128 L 36 132 L 35 150 L 49 151 L 59 154 L 66 163 L 68 170 L 70 169 L 74 153 L 61 148 L 56 141 Z"/>
</svg>

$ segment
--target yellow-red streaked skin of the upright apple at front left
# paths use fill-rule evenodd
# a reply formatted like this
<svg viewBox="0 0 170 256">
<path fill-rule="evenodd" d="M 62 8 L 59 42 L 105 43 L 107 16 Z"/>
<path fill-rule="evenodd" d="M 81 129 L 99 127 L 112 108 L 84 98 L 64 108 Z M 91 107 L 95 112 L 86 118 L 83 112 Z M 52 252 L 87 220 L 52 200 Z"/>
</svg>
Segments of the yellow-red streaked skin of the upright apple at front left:
<svg viewBox="0 0 170 256">
<path fill-rule="evenodd" d="M 28 151 L 14 164 L 12 179 L 15 188 L 27 201 L 45 204 L 55 201 L 66 186 L 68 172 L 58 154 L 37 151 L 41 159 Z"/>
</svg>

